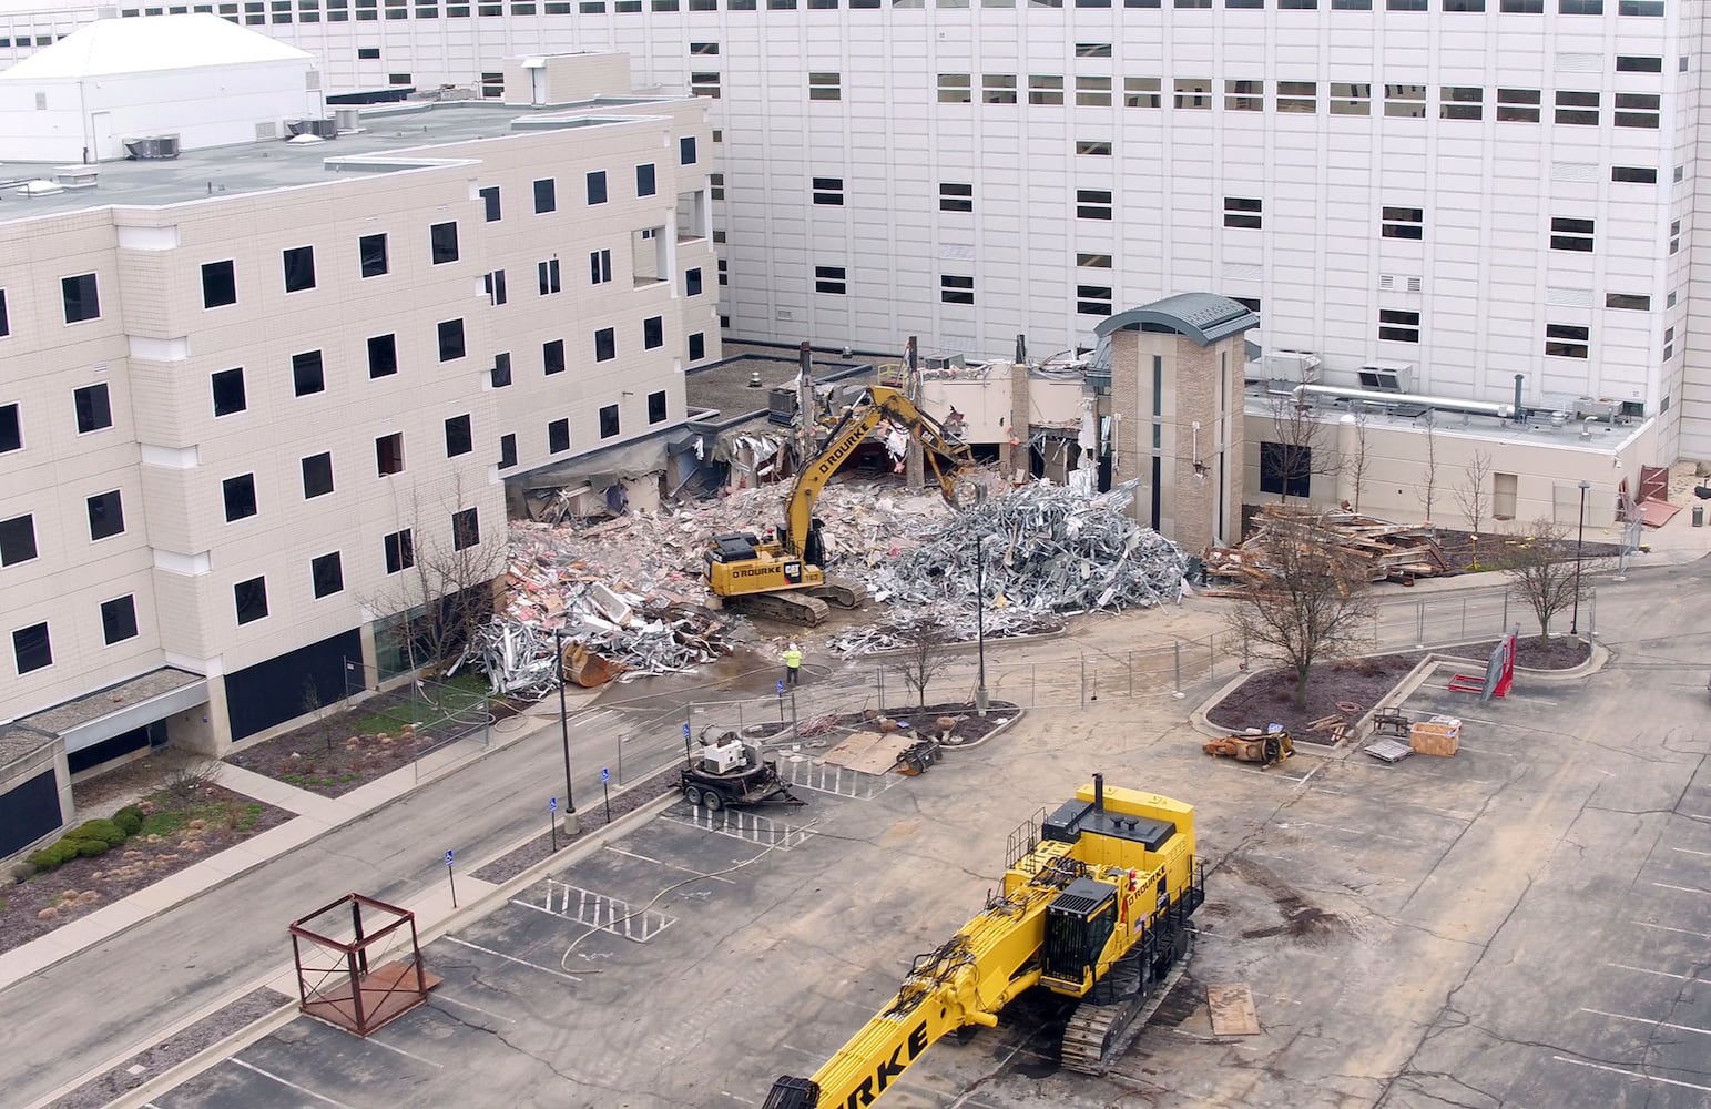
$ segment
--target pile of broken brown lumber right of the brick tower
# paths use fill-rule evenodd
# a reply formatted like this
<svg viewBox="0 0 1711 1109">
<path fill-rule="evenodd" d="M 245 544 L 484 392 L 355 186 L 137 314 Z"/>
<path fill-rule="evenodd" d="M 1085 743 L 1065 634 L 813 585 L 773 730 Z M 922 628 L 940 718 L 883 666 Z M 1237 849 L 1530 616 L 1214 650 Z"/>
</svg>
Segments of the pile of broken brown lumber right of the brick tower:
<svg viewBox="0 0 1711 1109">
<path fill-rule="evenodd" d="M 1280 543 L 1336 548 L 1345 561 L 1364 566 L 1367 580 L 1412 584 L 1449 572 L 1442 549 L 1427 527 L 1391 524 L 1355 512 L 1323 512 L 1294 505 L 1264 505 L 1254 532 L 1237 548 L 1210 548 L 1206 577 L 1235 590 L 1264 587 Z M 1213 590 L 1220 594 L 1220 590 Z"/>
</svg>

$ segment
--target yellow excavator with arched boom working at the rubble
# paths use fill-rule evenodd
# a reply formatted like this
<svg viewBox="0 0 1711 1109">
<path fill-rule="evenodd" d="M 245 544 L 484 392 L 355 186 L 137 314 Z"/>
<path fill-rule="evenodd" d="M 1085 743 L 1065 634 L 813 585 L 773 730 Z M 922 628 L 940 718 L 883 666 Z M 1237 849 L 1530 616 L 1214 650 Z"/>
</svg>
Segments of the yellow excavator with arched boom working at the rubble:
<svg viewBox="0 0 1711 1109">
<path fill-rule="evenodd" d="M 844 608 L 861 602 L 857 589 L 828 580 L 821 570 L 825 541 L 814 501 L 881 421 L 900 423 L 921 435 L 922 459 L 944 500 L 958 503 L 965 491 L 960 479 L 974 466 L 967 443 L 953 440 L 939 421 L 898 390 L 873 385 L 844 411 L 825 447 L 796 476 L 777 537 L 761 539 L 753 532 L 713 536 L 707 549 L 707 589 L 725 608 L 813 626 L 830 614 L 826 601 Z"/>
</svg>

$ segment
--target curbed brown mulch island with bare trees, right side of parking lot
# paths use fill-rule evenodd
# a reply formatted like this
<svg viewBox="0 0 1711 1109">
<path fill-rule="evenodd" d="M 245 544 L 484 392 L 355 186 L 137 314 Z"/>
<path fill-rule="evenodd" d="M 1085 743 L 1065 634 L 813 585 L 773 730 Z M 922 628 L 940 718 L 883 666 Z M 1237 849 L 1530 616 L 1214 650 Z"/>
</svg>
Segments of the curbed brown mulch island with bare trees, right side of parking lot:
<svg viewBox="0 0 1711 1109">
<path fill-rule="evenodd" d="M 1448 647 L 1430 654 L 1441 659 L 1468 659 L 1483 664 L 1497 640 Z M 1206 721 L 1232 732 L 1247 727 L 1261 731 L 1282 724 L 1297 743 L 1329 744 L 1331 736 L 1307 731 L 1307 724 L 1331 714 L 1348 722 L 1389 697 L 1391 690 L 1408 676 L 1425 652 L 1369 655 L 1341 659 L 1319 667 L 1307 683 L 1305 707 L 1295 705 L 1295 673 L 1288 669 L 1258 671 L 1228 697 L 1218 702 Z M 1557 637 L 1548 643 L 1538 638 L 1516 640 L 1516 666 L 1531 669 L 1569 669 L 1591 657 L 1591 645 L 1581 640 Z"/>
</svg>

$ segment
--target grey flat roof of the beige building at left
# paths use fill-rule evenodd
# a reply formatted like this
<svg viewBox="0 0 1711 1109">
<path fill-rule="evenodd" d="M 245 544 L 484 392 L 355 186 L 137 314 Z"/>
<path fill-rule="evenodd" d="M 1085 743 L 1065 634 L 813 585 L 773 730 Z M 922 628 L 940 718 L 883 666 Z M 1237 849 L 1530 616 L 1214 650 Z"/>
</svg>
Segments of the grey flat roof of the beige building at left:
<svg viewBox="0 0 1711 1109">
<path fill-rule="evenodd" d="M 635 123 L 636 115 L 601 116 L 601 110 L 618 111 L 635 104 L 669 103 L 667 96 L 601 96 L 577 104 L 530 110 L 491 101 L 450 101 L 387 106 L 361 116 L 364 130 L 323 142 L 246 142 L 241 145 L 185 151 L 163 161 L 106 161 L 92 166 L 92 188 L 27 197 L 19 193 L 24 181 L 53 180 L 55 163 L 0 161 L 0 221 L 31 219 L 63 212 L 82 212 L 116 204 L 168 205 L 209 197 L 267 192 L 296 185 L 335 181 L 342 175 L 395 173 L 412 168 L 411 154 L 423 159 L 455 157 L 435 147 L 503 139 L 536 130 L 580 130 L 602 125 Z M 513 123 L 524 120 L 525 127 Z M 361 159 L 399 159 L 399 164 Z M 329 159 L 358 159 L 356 164 L 329 166 Z M 82 166 L 79 166 L 82 169 Z"/>
</svg>

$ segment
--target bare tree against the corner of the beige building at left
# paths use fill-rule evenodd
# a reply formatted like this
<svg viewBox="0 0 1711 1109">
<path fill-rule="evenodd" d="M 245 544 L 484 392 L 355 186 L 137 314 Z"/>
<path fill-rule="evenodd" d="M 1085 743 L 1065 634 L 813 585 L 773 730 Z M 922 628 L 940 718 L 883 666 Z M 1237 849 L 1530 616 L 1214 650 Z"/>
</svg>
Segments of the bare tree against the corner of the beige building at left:
<svg viewBox="0 0 1711 1109">
<path fill-rule="evenodd" d="M 452 481 L 438 512 L 424 512 L 412 491 L 407 512 L 399 515 L 409 520 L 395 541 L 404 572 L 394 589 L 368 604 L 378 614 L 406 614 L 400 633 L 412 671 L 443 666 L 493 614 L 491 584 L 505 568 L 503 520 L 488 520 L 483 537 L 476 510 L 465 505 L 462 479 Z"/>
</svg>

